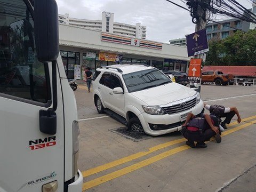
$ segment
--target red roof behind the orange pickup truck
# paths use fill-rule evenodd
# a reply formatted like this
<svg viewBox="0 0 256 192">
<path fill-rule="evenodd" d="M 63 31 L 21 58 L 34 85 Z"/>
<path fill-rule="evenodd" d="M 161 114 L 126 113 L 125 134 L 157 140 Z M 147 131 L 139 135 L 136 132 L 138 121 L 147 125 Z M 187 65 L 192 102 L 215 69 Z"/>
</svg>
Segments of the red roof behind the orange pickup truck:
<svg viewBox="0 0 256 192">
<path fill-rule="evenodd" d="M 223 74 L 232 74 L 236 76 L 256 77 L 256 66 L 204 66 L 202 72 L 208 70 L 219 70 Z"/>
</svg>

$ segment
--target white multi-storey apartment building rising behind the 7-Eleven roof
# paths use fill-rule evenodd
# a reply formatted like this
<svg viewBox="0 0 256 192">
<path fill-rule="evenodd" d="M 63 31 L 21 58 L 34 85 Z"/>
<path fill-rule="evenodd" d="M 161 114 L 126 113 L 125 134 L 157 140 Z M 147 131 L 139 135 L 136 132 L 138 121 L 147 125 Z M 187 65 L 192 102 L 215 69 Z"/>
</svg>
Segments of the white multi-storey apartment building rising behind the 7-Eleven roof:
<svg viewBox="0 0 256 192">
<path fill-rule="evenodd" d="M 125 23 L 114 22 L 114 13 L 102 12 L 101 20 L 88 20 L 70 18 L 69 14 L 59 14 L 59 23 L 83 27 L 85 29 L 99 30 L 116 35 L 122 35 L 133 38 L 146 39 L 146 26 L 142 26 L 141 23 L 136 25 L 129 25 Z"/>
</svg>

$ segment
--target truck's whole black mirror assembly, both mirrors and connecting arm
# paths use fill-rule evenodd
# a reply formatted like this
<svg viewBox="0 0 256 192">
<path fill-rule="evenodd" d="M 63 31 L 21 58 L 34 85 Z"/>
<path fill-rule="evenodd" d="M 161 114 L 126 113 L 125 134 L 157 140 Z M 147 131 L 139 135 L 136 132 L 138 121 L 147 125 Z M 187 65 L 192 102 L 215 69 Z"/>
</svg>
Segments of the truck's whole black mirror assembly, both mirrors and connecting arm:
<svg viewBox="0 0 256 192">
<path fill-rule="evenodd" d="M 59 16 L 55 0 L 35 0 L 34 29 L 37 59 L 47 63 L 52 61 L 52 108 L 39 111 L 39 130 L 46 134 L 56 134 L 58 106 L 57 61 L 59 55 Z"/>
</svg>

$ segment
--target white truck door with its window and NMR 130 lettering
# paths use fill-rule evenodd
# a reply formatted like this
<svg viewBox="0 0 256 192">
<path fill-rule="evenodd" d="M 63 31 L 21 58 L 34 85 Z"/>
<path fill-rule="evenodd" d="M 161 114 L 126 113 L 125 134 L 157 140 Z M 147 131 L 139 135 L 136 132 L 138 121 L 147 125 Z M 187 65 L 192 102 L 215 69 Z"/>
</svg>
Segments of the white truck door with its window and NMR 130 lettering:
<svg viewBox="0 0 256 192">
<path fill-rule="evenodd" d="M 0 0 L 0 191 L 42 191 L 64 183 L 63 103 L 57 133 L 39 131 L 39 110 L 52 106 L 49 63 L 37 60 L 29 3 Z"/>
</svg>

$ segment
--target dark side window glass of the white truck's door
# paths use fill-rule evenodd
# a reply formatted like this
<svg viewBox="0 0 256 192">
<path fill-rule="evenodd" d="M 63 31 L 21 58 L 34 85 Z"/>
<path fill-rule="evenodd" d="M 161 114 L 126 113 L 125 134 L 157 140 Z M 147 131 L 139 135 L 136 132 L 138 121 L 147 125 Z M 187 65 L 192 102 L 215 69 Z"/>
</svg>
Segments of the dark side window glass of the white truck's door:
<svg viewBox="0 0 256 192">
<path fill-rule="evenodd" d="M 0 94 L 47 103 L 51 99 L 49 71 L 47 64 L 36 57 L 34 22 L 29 8 L 23 1 L 4 2 L 10 4 L 10 9 L 1 9 Z M 19 12 L 12 11 L 12 6 L 19 7 Z"/>
</svg>

